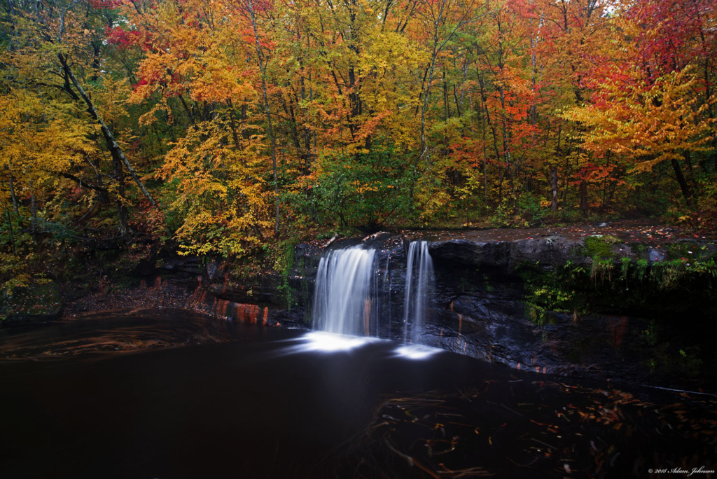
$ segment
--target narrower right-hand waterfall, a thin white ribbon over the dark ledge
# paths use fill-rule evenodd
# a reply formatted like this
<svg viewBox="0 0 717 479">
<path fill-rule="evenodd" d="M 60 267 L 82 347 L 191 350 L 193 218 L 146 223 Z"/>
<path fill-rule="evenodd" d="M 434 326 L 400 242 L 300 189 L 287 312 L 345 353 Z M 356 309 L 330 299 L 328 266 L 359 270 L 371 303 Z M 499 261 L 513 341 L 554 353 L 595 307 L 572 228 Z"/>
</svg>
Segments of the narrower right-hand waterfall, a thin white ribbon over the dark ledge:
<svg viewBox="0 0 717 479">
<path fill-rule="evenodd" d="M 428 242 L 412 242 L 408 247 L 406 260 L 404 341 L 418 339 L 419 328 L 428 311 L 433 279 L 433 260 L 428 253 Z"/>
</svg>

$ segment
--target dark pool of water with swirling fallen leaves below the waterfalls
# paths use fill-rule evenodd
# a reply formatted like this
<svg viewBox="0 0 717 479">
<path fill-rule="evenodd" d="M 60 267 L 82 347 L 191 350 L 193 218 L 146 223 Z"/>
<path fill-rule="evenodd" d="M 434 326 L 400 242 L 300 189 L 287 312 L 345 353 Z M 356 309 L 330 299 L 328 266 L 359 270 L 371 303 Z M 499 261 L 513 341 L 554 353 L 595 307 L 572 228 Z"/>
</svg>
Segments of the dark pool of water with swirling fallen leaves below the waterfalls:
<svg viewBox="0 0 717 479">
<path fill-rule="evenodd" d="M 710 435 L 662 445 L 640 432 L 688 412 L 713 421 L 703 399 L 680 416 L 455 354 L 305 335 L 178 311 L 1 331 L 0 477 L 647 477 L 683 455 L 713 464 Z M 648 411 L 667 422 L 645 423 Z"/>
</svg>

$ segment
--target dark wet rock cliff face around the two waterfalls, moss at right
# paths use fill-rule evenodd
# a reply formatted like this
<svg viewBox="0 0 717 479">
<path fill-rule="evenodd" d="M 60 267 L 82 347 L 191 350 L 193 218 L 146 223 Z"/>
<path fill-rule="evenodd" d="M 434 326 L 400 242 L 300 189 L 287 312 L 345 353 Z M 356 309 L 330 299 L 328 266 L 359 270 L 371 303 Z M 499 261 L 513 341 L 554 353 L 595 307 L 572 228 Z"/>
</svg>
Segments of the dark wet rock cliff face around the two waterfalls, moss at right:
<svg viewBox="0 0 717 479">
<path fill-rule="evenodd" d="M 407 244 L 416 239 L 383 234 L 367 240 L 376 249 L 381 337 L 403 337 Z M 669 248 L 556 234 L 423 239 L 430 241 L 435 285 L 421 343 L 541 373 L 684 387 L 715 382 L 708 372 L 716 370 L 714 278 L 665 269 Z M 337 241 L 329 248 L 359 242 Z M 695 260 L 704 261 L 717 251 L 711 244 L 681 248 L 690 254 L 699 249 Z M 268 275 L 242 285 L 210 262 L 192 273 L 199 278 L 197 294 L 220 316 L 310 328 L 322 252 L 320 246 L 297 245 L 288 277 Z M 179 266 L 169 268 L 176 272 Z M 663 282 L 679 273 L 678 280 L 690 287 L 652 288 L 644 276 L 650 269 L 655 278 L 662 271 Z M 571 275 L 573 283 L 561 283 Z"/>
</svg>

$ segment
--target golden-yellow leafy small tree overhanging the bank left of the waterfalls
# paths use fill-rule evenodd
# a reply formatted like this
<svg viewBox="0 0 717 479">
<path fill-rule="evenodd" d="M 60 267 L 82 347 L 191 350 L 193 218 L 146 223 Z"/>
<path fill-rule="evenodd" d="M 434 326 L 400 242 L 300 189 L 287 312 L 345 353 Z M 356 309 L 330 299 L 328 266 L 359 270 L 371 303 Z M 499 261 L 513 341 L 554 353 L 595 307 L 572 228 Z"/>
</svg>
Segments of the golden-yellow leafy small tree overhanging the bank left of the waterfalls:
<svg viewBox="0 0 717 479">
<path fill-rule="evenodd" d="M 239 255 L 270 234 L 267 157 L 257 140 L 232 144 L 218 116 L 189 131 L 169 151 L 158 176 L 171 188 L 170 212 L 183 254 Z"/>
</svg>

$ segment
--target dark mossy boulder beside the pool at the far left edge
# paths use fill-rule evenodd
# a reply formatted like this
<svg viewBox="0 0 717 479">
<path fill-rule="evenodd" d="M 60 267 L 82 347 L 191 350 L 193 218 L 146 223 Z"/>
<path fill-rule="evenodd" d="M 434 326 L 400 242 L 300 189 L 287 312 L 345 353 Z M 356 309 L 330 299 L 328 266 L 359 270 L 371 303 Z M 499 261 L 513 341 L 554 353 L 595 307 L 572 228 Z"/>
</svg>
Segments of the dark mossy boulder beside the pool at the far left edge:
<svg viewBox="0 0 717 479">
<path fill-rule="evenodd" d="M 6 294 L 0 307 L 3 323 L 54 321 L 62 315 L 62 295 L 55 283 L 15 288 Z"/>
</svg>

